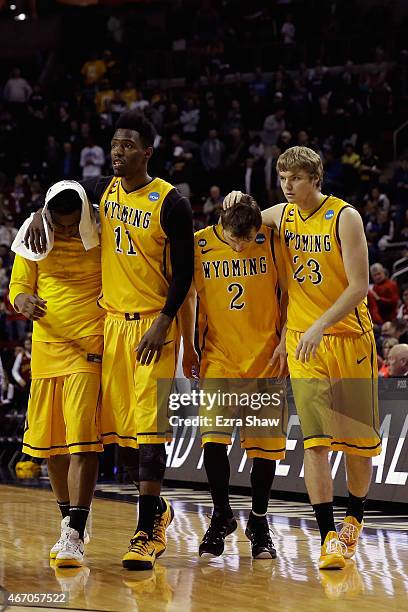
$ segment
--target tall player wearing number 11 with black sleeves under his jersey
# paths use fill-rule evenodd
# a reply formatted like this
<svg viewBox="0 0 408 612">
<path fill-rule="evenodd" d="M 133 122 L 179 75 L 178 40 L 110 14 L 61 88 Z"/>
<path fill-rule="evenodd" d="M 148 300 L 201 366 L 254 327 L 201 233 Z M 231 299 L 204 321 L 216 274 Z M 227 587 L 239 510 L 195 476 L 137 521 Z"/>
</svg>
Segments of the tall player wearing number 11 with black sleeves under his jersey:
<svg viewBox="0 0 408 612">
<path fill-rule="evenodd" d="M 100 205 L 102 292 L 107 316 L 102 363 L 101 429 L 104 444 L 133 452 L 140 481 L 139 519 L 123 565 L 151 569 L 166 548 L 173 518 L 160 497 L 169 435 L 167 406 L 158 405 L 157 381 L 174 377 L 178 331 L 175 315 L 193 275 L 191 207 L 147 165 L 153 125 L 136 112 L 121 115 L 111 143 L 114 175 L 81 182 Z M 27 234 L 33 250 L 45 243 L 41 219 Z"/>
</svg>

